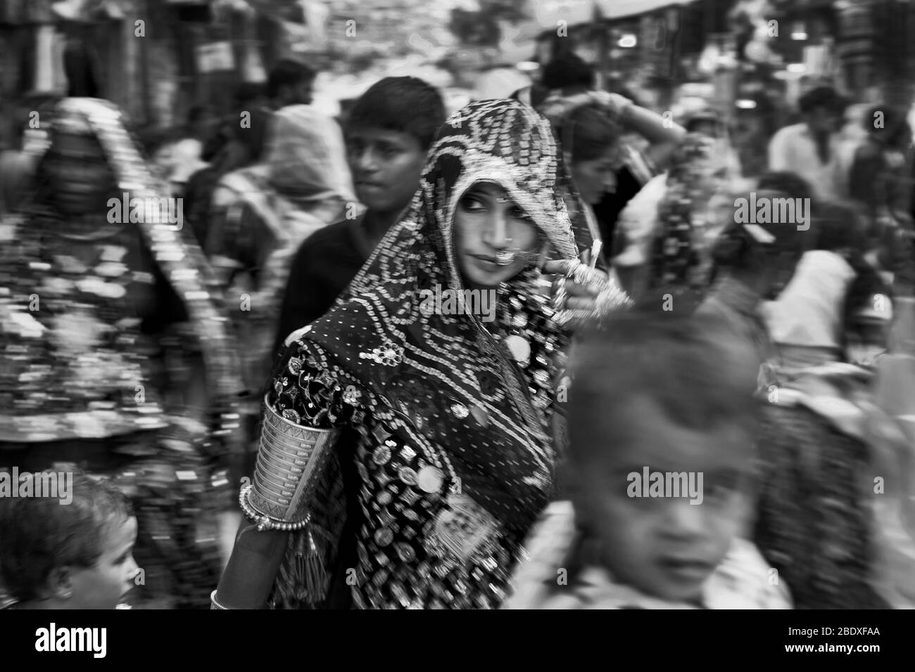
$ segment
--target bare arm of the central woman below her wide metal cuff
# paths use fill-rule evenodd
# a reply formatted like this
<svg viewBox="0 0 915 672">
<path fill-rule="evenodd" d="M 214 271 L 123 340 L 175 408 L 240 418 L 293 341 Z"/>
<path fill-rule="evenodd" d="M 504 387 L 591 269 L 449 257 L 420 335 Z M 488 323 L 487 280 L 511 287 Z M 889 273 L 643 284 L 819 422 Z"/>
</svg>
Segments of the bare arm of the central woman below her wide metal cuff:
<svg viewBox="0 0 915 672">
<path fill-rule="evenodd" d="M 288 532 L 259 532 L 253 523 L 242 520 L 216 591 L 217 601 L 227 609 L 264 609 L 288 540 Z"/>
</svg>

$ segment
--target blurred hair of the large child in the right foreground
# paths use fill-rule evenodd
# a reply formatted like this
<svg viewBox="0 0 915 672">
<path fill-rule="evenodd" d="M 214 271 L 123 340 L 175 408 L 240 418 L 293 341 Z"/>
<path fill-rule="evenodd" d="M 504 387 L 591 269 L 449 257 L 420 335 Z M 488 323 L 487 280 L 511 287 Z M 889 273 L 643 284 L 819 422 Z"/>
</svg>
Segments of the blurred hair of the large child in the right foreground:
<svg viewBox="0 0 915 672">
<path fill-rule="evenodd" d="M 628 442 L 632 400 L 651 399 L 679 427 L 714 430 L 757 420 L 759 362 L 752 345 L 720 318 L 635 310 L 573 353 L 569 454 L 587 463 Z"/>
</svg>

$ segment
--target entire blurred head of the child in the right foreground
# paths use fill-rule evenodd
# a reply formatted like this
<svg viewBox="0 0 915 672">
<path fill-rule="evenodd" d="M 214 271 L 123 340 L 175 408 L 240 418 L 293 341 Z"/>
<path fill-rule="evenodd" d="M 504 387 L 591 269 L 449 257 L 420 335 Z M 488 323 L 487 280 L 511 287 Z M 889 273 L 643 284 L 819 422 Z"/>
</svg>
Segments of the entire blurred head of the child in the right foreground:
<svg viewBox="0 0 915 672">
<path fill-rule="evenodd" d="M 673 313 L 620 316 L 576 354 L 572 498 L 615 581 L 700 597 L 748 513 L 757 370 L 727 325 Z"/>
</svg>

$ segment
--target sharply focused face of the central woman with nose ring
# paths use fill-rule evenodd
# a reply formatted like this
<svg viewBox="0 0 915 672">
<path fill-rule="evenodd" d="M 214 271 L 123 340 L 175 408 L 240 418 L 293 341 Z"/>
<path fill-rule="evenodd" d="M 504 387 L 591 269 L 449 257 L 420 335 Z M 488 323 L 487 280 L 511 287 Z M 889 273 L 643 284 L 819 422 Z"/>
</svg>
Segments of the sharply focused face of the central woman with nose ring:
<svg viewBox="0 0 915 672">
<path fill-rule="evenodd" d="M 496 287 L 521 272 L 537 254 L 533 220 L 502 187 L 470 187 L 455 211 L 458 268 L 470 287 Z"/>
</svg>

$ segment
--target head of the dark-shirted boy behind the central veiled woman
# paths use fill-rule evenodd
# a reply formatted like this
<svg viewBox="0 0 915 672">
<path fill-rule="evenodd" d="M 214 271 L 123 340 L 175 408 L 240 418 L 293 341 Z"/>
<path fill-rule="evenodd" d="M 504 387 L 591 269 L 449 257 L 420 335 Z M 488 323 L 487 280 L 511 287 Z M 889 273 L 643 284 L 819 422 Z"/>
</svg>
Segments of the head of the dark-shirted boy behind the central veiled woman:
<svg viewBox="0 0 915 672">
<path fill-rule="evenodd" d="M 346 123 L 350 172 L 369 210 L 398 212 L 410 204 L 445 118 L 441 94 L 415 77 L 385 77 L 355 102 Z"/>
</svg>

